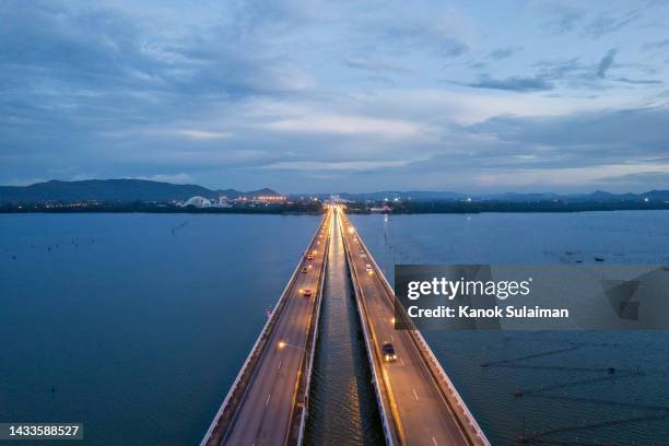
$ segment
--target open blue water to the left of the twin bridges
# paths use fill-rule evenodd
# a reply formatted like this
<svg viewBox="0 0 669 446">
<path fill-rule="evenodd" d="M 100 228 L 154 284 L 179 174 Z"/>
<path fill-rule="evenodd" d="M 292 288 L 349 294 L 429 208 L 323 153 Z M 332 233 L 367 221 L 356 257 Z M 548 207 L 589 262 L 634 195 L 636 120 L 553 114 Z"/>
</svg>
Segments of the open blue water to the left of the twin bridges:
<svg viewBox="0 0 669 446">
<path fill-rule="evenodd" d="M 0 421 L 199 443 L 319 220 L 0 215 Z"/>
</svg>

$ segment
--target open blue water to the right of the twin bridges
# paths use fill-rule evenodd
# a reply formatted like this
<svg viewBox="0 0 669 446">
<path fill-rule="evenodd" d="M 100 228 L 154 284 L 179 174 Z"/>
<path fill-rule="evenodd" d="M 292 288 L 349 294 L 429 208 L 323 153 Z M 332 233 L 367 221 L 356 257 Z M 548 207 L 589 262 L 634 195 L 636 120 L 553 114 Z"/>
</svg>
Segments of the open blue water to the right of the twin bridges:
<svg viewBox="0 0 669 446">
<path fill-rule="evenodd" d="M 395 263 L 669 263 L 667 211 L 351 220 L 389 280 Z M 669 444 L 668 331 L 424 334 L 494 445 L 524 432 L 542 444 Z"/>
</svg>

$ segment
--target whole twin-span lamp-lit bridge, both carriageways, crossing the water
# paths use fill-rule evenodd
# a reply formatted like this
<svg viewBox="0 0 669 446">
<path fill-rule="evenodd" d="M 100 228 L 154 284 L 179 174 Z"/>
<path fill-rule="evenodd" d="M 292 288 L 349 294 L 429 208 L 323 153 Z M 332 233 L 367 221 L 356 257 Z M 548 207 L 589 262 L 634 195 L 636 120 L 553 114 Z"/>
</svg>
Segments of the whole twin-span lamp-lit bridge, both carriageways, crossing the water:
<svg viewBox="0 0 669 446">
<path fill-rule="evenodd" d="M 395 330 L 394 291 L 340 206 L 328 208 L 200 445 L 302 444 L 332 236 L 343 239 L 386 443 L 490 445 L 420 331 Z"/>
</svg>

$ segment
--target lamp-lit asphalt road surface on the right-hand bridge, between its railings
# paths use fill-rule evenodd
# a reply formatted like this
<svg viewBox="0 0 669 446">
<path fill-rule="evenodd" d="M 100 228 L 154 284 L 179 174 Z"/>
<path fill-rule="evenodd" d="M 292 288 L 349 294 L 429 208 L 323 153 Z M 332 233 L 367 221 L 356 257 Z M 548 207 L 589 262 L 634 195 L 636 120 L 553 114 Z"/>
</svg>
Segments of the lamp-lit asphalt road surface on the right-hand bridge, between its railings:
<svg viewBox="0 0 669 446">
<path fill-rule="evenodd" d="M 400 444 L 429 446 L 488 444 L 484 436 L 472 436 L 458 420 L 411 332 L 395 330 L 395 296 L 389 296 L 379 277 L 383 272 L 376 269 L 348 218 L 341 211 L 337 214 L 342 222 L 353 280 L 364 300 L 374 353 L 380 364 L 378 373 L 385 375 L 377 380 L 384 383 L 388 394 L 396 439 Z M 367 265 L 372 265 L 372 271 Z M 395 347 L 396 362 L 384 361 L 382 349 L 386 342 Z"/>
</svg>

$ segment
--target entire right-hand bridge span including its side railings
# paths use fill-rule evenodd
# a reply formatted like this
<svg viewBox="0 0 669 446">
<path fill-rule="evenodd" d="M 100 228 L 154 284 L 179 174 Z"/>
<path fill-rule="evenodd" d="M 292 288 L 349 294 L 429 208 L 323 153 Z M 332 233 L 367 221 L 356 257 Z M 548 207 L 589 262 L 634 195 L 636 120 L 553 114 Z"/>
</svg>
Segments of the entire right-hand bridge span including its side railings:
<svg viewBox="0 0 669 446">
<path fill-rule="evenodd" d="M 419 330 L 395 330 L 395 292 L 347 215 L 337 219 L 388 444 L 490 445 Z M 404 316 L 406 317 L 406 316 Z M 404 320 L 413 327 L 410 320 Z M 391 343 L 397 360 L 385 360 Z"/>
</svg>

